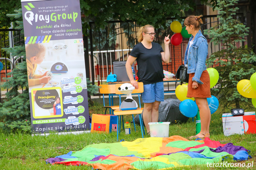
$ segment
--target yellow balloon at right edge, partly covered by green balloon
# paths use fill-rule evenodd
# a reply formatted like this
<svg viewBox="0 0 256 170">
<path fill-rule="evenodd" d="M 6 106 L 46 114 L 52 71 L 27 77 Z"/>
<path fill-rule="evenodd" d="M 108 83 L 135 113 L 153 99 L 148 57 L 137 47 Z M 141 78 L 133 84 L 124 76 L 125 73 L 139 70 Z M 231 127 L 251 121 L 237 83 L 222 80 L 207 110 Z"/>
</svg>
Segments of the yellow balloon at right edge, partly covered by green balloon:
<svg viewBox="0 0 256 170">
<path fill-rule="evenodd" d="M 240 80 L 237 83 L 236 88 L 238 93 L 240 93 L 242 96 L 247 98 L 256 98 L 256 90 L 252 88 L 250 80 Z"/>
</svg>

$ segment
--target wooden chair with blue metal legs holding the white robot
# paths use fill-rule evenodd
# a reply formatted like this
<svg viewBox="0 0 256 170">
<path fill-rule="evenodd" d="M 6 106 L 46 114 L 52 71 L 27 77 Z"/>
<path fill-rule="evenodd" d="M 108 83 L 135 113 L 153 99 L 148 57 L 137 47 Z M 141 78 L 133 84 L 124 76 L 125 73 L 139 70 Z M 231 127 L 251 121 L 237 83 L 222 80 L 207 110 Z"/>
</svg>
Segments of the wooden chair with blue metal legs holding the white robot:
<svg viewBox="0 0 256 170">
<path fill-rule="evenodd" d="M 138 82 L 139 88 L 132 91 L 132 94 L 138 94 L 138 97 L 139 97 L 139 105 L 138 105 L 138 109 L 136 109 L 136 110 L 124 110 L 124 111 L 122 111 L 120 109 L 120 106 L 121 106 L 121 95 L 123 93 L 118 91 L 118 88 L 121 85 L 122 84 L 115 84 L 115 94 L 119 95 L 119 108 L 114 110 L 114 115 L 117 115 L 117 129 L 119 131 L 119 132 L 117 132 L 117 141 L 118 141 L 118 133 L 120 133 L 120 129 L 121 129 L 121 117 L 120 117 L 120 123 L 119 123 L 119 116 L 121 116 L 121 115 L 123 116 L 123 115 L 126 115 L 126 114 L 131 114 L 132 115 L 133 125 L 134 125 L 135 131 L 136 131 L 136 127 L 135 127 L 135 122 L 134 122 L 133 114 L 139 114 L 139 121 L 140 121 L 140 127 L 141 127 L 141 135 L 142 135 L 142 138 L 144 138 L 143 132 L 144 132 L 144 135 L 145 135 L 145 131 L 144 131 L 144 126 L 143 126 L 142 118 L 141 118 L 141 113 L 142 113 L 144 108 L 141 108 L 140 96 L 139 96 L 140 93 L 142 93 L 144 91 L 143 82 Z M 119 127 L 118 127 L 118 124 L 119 124 Z M 142 132 L 142 129 L 143 129 L 143 132 Z"/>
</svg>

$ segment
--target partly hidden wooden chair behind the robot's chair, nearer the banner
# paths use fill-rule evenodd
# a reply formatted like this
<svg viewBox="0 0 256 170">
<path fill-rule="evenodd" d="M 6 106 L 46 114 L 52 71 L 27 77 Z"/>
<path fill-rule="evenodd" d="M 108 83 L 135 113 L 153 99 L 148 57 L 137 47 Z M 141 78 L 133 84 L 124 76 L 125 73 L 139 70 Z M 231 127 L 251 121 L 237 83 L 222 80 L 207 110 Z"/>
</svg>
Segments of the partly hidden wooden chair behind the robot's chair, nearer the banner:
<svg viewBox="0 0 256 170">
<path fill-rule="evenodd" d="M 99 89 L 100 93 L 103 94 L 103 104 L 104 104 L 104 108 L 106 108 L 105 114 L 107 109 L 109 109 L 109 114 L 111 114 L 111 110 L 113 112 L 115 109 L 119 109 L 119 106 L 113 106 L 114 105 L 113 96 L 117 95 L 115 94 L 115 84 L 107 84 L 107 85 L 99 85 L 99 86 L 100 86 L 100 89 Z M 105 106 L 104 94 L 109 95 L 109 106 Z"/>
</svg>

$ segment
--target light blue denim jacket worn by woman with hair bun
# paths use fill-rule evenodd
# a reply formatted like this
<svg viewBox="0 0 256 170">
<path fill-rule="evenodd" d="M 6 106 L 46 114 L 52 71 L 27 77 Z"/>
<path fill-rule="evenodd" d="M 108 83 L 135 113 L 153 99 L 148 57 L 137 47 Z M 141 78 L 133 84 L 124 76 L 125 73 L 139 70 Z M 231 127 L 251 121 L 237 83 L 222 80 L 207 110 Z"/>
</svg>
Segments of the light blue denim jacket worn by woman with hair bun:
<svg viewBox="0 0 256 170">
<path fill-rule="evenodd" d="M 187 73 L 195 73 L 192 81 L 196 81 L 198 84 L 203 84 L 200 77 L 202 72 L 206 70 L 205 61 L 208 54 L 208 43 L 205 38 L 200 36 L 203 36 L 201 30 L 196 33 L 193 44 L 189 48 L 189 43 L 193 39 L 193 35 L 190 37 L 185 52 L 184 64 L 187 64 Z"/>
</svg>

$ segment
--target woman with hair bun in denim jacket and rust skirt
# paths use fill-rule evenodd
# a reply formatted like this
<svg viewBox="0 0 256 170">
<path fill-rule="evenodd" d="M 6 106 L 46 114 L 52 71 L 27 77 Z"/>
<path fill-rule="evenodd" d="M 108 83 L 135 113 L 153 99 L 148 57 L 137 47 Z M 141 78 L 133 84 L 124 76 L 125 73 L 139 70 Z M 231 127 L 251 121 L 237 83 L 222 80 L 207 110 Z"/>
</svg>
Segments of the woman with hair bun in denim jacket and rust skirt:
<svg viewBox="0 0 256 170">
<path fill-rule="evenodd" d="M 187 32 L 192 34 L 187 44 L 184 64 L 187 65 L 187 73 L 189 73 L 187 97 L 195 98 L 201 119 L 201 131 L 195 136 L 191 136 L 190 139 L 201 138 L 204 140 L 206 137 L 210 137 L 211 112 L 207 98 L 212 96 L 210 92 L 210 77 L 205 65 L 208 42 L 201 33 L 201 25 L 203 24 L 201 17 L 203 15 L 190 15 L 184 20 Z"/>
</svg>

